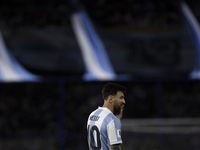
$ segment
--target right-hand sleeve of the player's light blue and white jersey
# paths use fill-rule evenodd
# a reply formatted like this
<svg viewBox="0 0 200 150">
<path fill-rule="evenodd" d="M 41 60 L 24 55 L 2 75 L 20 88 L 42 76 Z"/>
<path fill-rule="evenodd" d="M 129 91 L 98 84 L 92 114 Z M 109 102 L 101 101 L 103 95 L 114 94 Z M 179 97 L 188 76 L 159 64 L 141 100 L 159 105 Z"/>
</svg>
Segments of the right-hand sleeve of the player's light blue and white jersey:
<svg viewBox="0 0 200 150">
<path fill-rule="evenodd" d="M 110 141 L 110 145 L 122 143 L 120 120 L 118 119 L 112 120 L 107 125 L 107 132 L 108 132 L 108 139 Z"/>
</svg>

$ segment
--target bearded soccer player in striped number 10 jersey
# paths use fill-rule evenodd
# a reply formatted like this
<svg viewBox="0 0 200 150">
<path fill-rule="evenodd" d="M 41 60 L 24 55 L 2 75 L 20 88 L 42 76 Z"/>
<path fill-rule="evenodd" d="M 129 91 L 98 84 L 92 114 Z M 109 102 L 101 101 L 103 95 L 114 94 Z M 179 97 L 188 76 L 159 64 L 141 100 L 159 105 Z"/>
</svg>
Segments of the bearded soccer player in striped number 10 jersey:
<svg viewBox="0 0 200 150">
<path fill-rule="evenodd" d="M 104 104 L 88 117 L 89 150 L 121 150 L 121 122 L 125 104 L 124 86 L 108 83 L 103 87 Z"/>
</svg>

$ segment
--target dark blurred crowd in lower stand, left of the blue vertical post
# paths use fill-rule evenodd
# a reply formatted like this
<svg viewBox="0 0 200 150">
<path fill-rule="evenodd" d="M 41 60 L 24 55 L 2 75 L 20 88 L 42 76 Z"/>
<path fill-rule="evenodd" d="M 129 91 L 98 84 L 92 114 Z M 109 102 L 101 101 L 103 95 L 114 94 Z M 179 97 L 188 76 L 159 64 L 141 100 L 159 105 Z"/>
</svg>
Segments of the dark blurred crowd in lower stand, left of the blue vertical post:
<svg viewBox="0 0 200 150">
<path fill-rule="evenodd" d="M 54 134 L 57 95 L 53 85 L 0 84 L 0 135 Z"/>
</svg>

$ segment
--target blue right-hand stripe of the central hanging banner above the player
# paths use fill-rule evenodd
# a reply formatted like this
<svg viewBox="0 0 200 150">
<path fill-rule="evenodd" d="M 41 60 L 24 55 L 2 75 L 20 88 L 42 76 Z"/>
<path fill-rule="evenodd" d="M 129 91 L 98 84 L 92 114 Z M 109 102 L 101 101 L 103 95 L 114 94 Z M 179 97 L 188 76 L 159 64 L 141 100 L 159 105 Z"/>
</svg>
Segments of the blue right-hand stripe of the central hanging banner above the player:
<svg viewBox="0 0 200 150">
<path fill-rule="evenodd" d="M 114 70 L 108 60 L 106 51 L 101 43 L 100 38 L 98 37 L 97 33 L 95 32 L 95 29 L 94 29 L 88 15 L 86 14 L 85 11 L 80 11 L 79 14 L 83 21 L 83 28 L 85 29 L 86 33 L 88 33 L 89 41 L 91 42 L 91 45 L 93 46 L 93 50 L 95 52 L 96 59 L 98 60 L 99 64 L 105 71 L 107 71 L 108 73 L 114 74 Z"/>
</svg>

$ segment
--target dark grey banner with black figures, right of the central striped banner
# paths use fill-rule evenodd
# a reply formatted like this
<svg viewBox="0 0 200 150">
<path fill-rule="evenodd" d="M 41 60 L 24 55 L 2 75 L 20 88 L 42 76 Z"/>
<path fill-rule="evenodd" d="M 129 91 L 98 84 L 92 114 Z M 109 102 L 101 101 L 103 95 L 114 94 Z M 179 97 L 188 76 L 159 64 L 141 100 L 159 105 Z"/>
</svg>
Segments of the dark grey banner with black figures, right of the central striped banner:
<svg viewBox="0 0 200 150">
<path fill-rule="evenodd" d="M 117 74 L 133 77 L 186 77 L 195 50 L 187 31 L 101 34 Z"/>
</svg>

